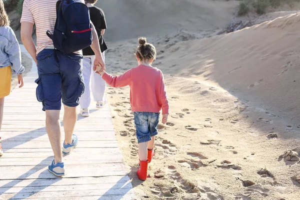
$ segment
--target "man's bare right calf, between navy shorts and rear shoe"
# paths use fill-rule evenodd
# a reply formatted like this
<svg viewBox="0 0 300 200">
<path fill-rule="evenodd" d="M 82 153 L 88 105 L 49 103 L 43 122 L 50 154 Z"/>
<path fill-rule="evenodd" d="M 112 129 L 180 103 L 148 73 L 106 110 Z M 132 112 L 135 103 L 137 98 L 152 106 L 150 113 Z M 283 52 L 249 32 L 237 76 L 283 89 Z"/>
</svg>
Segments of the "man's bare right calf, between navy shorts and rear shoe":
<svg viewBox="0 0 300 200">
<path fill-rule="evenodd" d="M 72 143 L 72 134 L 77 120 L 76 107 L 64 106 L 63 128 L 64 128 L 64 143 Z"/>
</svg>

